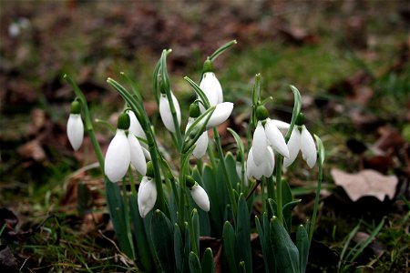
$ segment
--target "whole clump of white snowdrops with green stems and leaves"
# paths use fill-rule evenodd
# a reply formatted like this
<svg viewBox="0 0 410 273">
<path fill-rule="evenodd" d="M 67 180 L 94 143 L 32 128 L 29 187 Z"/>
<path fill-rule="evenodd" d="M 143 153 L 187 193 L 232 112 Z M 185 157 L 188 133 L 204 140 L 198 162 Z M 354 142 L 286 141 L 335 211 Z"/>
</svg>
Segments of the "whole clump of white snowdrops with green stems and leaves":
<svg viewBox="0 0 410 273">
<path fill-rule="evenodd" d="M 169 154 L 179 156 L 172 164 L 161 152 L 155 136 L 159 128 L 154 130 L 151 125 L 143 97 L 130 76 L 121 73 L 121 84 L 107 80 L 124 99 L 124 109 L 106 155 L 97 143 L 85 96 L 65 76 L 77 96 L 68 118 L 68 139 L 77 150 L 84 132 L 90 137 L 105 174 L 108 210 L 118 246 L 143 271 L 214 272 L 218 255 L 219 270 L 252 272 L 251 233 L 255 232 L 266 272 L 305 271 L 322 181 L 323 145 L 304 126 L 298 89 L 290 86 L 294 95 L 290 123 L 276 120 L 265 106 L 272 97 L 261 97 L 261 76 L 257 75 L 250 92 L 247 134 L 240 136 L 228 128 L 236 140 L 236 157 L 223 152 L 216 126 L 231 116 L 234 106 L 224 102 L 212 65 L 235 44 L 222 45 L 205 60 L 199 83 L 185 77 L 197 97 L 189 113 L 183 113 L 188 117 L 186 126 L 181 125 L 179 101 L 169 82 L 166 60 L 171 51 L 162 52 L 152 91 L 175 147 Z M 299 151 L 307 167 L 318 166 L 319 175 L 313 217 L 310 223 L 297 227 L 293 242 L 292 208 L 301 200 L 292 198 L 283 169 L 292 165 Z M 176 167 L 175 162 L 179 163 Z M 254 202 L 262 204 L 260 215 L 251 213 Z M 222 253 L 202 249 L 202 237 L 221 238 Z"/>
</svg>

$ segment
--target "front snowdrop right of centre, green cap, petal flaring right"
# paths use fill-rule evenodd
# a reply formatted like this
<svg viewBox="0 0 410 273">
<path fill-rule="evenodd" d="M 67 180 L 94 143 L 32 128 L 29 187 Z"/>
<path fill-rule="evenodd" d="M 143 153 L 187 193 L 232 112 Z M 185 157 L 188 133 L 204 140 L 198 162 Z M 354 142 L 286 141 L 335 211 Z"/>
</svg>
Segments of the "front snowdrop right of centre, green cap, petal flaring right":
<svg viewBox="0 0 410 273">
<path fill-rule="evenodd" d="M 286 146 L 284 137 L 277 126 L 268 117 L 268 110 L 265 106 L 256 108 L 258 124 L 253 133 L 252 147 L 253 160 L 259 166 L 268 157 L 268 147 L 280 153 L 283 157 L 289 157 L 289 149 Z"/>
</svg>

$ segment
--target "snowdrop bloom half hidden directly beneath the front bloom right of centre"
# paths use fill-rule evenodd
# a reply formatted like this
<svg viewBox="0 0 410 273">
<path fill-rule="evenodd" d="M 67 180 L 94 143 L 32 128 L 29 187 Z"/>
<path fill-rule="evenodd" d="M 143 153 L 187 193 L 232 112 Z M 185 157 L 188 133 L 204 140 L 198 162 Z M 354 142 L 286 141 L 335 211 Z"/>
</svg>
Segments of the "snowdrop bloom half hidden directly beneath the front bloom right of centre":
<svg viewBox="0 0 410 273">
<path fill-rule="evenodd" d="M 246 174 L 248 178 L 255 177 L 261 179 L 264 177 L 271 177 L 273 168 L 275 167 L 275 157 L 273 156 L 272 147 L 268 147 L 268 152 L 260 165 L 256 165 L 254 162 L 254 150 L 251 147 L 248 153 L 248 160 L 246 161 Z"/>
</svg>

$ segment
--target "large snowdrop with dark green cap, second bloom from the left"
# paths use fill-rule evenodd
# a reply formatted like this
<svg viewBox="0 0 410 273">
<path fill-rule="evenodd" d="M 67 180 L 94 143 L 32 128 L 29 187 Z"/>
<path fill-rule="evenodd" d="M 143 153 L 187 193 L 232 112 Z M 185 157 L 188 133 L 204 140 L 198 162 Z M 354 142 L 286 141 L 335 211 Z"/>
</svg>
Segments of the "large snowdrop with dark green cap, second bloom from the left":
<svg viewBox="0 0 410 273">
<path fill-rule="evenodd" d="M 129 164 L 143 176 L 147 170 L 145 157 L 138 139 L 133 134 L 126 135 L 128 127 L 129 116 L 122 113 L 118 116 L 116 136 L 109 143 L 104 164 L 104 172 L 111 182 L 117 182 L 124 177 Z"/>
</svg>

